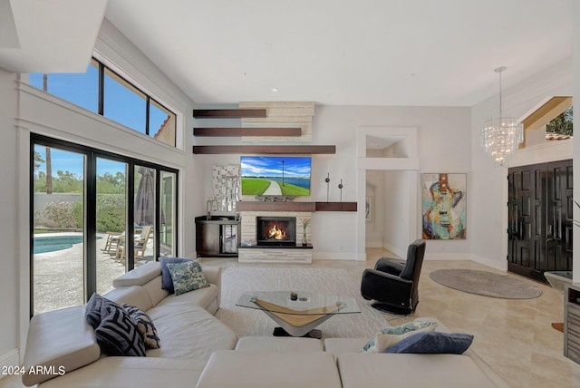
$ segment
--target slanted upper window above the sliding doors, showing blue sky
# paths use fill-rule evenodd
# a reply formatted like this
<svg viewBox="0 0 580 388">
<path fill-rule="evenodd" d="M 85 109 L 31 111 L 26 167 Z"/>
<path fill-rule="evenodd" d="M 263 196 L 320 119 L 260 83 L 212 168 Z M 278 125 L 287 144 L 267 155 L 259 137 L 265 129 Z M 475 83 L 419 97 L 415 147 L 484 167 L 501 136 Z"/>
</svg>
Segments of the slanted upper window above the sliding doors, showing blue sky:
<svg viewBox="0 0 580 388">
<path fill-rule="evenodd" d="M 29 82 L 175 147 L 175 113 L 94 58 L 85 73 L 30 73 Z"/>
</svg>

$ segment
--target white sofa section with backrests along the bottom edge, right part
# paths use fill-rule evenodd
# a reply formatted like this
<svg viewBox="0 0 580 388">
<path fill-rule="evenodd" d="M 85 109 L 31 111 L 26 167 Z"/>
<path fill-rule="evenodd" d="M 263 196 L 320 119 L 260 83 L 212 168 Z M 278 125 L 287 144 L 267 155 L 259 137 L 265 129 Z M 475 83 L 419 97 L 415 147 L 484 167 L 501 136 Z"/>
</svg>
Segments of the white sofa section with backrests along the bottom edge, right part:
<svg viewBox="0 0 580 388">
<path fill-rule="evenodd" d="M 437 331 L 449 333 L 441 324 Z M 509 387 L 471 350 L 464 354 L 361 353 L 367 341 L 241 337 L 235 350 L 211 355 L 197 388 Z"/>
</svg>

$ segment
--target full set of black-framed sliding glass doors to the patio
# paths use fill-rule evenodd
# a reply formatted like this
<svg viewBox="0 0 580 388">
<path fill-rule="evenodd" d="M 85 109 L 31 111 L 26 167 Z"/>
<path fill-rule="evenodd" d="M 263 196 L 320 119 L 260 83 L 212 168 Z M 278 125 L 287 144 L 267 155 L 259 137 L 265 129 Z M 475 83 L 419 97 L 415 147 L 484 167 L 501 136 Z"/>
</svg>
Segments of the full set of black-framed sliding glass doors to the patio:
<svg viewBox="0 0 580 388">
<path fill-rule="evenodd" d="M 34 134 L 31 150 L 32 315 L 177 256 L 176 170 Z"/>
</svg>

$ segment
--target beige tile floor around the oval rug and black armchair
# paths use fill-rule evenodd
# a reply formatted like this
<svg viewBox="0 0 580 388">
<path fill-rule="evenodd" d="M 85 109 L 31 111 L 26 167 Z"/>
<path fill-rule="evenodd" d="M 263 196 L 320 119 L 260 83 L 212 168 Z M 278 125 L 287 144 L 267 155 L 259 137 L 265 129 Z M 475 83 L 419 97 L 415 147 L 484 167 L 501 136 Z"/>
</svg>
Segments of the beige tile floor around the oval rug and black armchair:
<svg viewBox="0 0 580 388">
<path fill-rule="evenodd" d="M 345 268 L 358 283 L 364 268 L 372 267 L 377 258 L 388 255 L 380 248 L 372 248 L 367 250 L 366 262 L 315 260 L 312 267 Z M 222 267 L 254 266 L 240 265 L 232 258 L 203 258 L 202 263 Z M 550 286 L 507 274 L 539 286 L 542 296 L 508 300 L 466 294 L 433 282 L 429 274 L 439 268 L 472 268 L 501 273 L 470 261 L 425 261 L 420 277 L 420 304 L 415 315 L 384 315 L 385 320 L 391 325 L 399 325 L 416 317 L 432 316 L 452 331 L 475 335 L 472 349 L 513 387 L 580 386 L 580 365 L 565 358 L 563 334 L 551 327 L 552 322 L 563 320 L 564 302 L 560 293 Z M 17 378 L 0 380 L 0 388 L 9 387 L 22 388 L 23 385 Z"/>
</svg>

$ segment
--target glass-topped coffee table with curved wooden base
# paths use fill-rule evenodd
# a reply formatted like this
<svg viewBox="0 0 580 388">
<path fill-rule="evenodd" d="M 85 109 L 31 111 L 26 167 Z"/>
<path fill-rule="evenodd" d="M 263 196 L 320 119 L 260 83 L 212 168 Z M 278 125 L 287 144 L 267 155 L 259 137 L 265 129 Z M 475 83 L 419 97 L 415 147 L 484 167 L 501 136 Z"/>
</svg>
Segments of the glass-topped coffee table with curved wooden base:
<svg viewBox="0 0 580 388">
<path fill-rule="evenodd" d="M 296 295 L 292 295 L 296 294 Z M 280 327 L 274 335 L 322 338 L 314 327 L 333 315 L 356 314 L 361 308 L 351 296 L 335 296 L 311 292 L 253 291 L 239 297 L 237 306 L 262 310 Z"/>
</svg>

